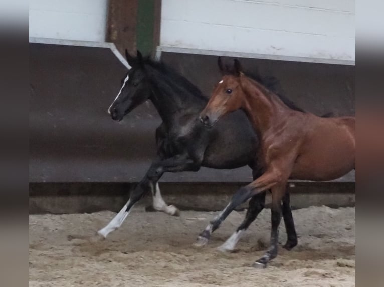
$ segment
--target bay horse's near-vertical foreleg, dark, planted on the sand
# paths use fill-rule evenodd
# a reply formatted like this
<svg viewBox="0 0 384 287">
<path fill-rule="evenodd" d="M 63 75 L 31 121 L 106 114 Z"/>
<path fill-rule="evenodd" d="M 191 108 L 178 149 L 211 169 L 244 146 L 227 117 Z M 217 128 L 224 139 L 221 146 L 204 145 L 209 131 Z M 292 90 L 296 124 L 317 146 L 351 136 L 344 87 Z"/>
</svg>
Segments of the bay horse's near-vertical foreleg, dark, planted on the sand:
<svg viewBox="0 0 384 287">
<path fill-rule="evenodd" d="M 279 225 L 281 221 L 281 200 L 284 197 L 285 185 L 280 184 L 272 187 L 272 206 L 271 206 L 271 239 L 268 251 L 253 263 L 253 267 L 265 268 L 267 263 L 277 256 L 279 242 Z"/>
</svg>

